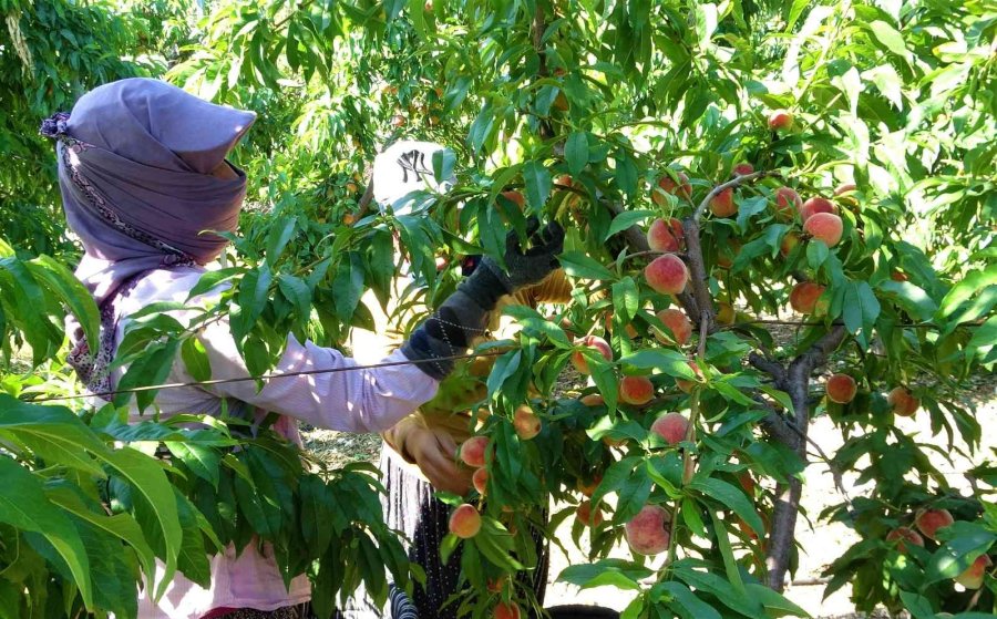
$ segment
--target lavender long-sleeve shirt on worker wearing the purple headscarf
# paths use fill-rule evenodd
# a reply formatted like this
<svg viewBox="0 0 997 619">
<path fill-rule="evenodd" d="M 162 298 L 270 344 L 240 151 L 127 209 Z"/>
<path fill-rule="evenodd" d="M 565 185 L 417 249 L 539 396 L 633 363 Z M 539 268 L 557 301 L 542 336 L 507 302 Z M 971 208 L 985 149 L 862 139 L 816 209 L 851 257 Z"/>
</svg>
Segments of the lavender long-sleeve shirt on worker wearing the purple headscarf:
<svg viewBox="0 0 997 619">
<path fill-rule="evenodd" d="M 157 270 L 144 277 L 119 303 L 117 341 L 127 326 L 127 316 L 157 301 L 186 301 L 191 289 L 204 274 L 198 268 Z M 210 296 L 208 296 L 209 299 Z M 196 301 L 196 300 L 195 300 Z M 184 312 L 175 312 L 183 320 Z M 247 376 L 245 363 L 236 351 L 227 322 L 206 327 L 198 334 L 212 365 L 212 378 Z M 401 361 L 395 351 L 386 361 Z M 288 336 L 287 350 L 274 369 L 275 373 L 304 370 L 327 370 L 356 367 L 352 359 L 333 349 L 298 342 Z M 119 370 L 121 378 L 123 370 Z M 177 358 L 166 382 L 191 382 L 183 362 Z M 223 399 L 229 412 L 254 414 L 271 411 L 296 417 L 319 427 L 343 432 L 379 432 L 393 426 L 435 394 L 438 382 L 415 365 L 363 369 L 346 372 L 310 374 L 271 379 L 259 392 L 255 381 L 233 382 L 212 386 L 191 386 L 160 391 L 155 405 L 161 419 L 179 413 L 217 414 Z M 134 404 L 133 404 L 134 406 Z M 132 419 L 141 419 L 132 410 Z M 296 425 L 282 420 L 278 430 L 298 441 Z M 162 568 L 162 566 L 160 566 Z M 162 575 L 162 572 L 161 572 Z M 236 557 L 235 548 L 212 557 L 212 584 L 199 587 L 177 575 L 158 603 L 147 596 L 148 587 L 140 595 L 138 619 L 197 619 L 217 608 L 256 608 L 274 610 L 307 601 L 311 591 L 307 577 L 299 576 L 290 589 L 284 581 L 271 556 L 255 545 Z"/>
</svg>

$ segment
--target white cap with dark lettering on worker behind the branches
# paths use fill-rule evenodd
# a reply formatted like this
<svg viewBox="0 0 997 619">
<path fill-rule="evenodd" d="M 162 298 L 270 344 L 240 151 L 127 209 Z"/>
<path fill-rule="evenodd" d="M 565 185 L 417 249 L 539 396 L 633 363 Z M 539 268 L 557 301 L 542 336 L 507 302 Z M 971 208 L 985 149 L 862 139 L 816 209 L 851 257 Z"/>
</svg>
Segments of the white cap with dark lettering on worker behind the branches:
<svg viewBox="0 0 997 619">
<path fill-rule="evenodd" d="M 433 190 L 446 193 L 456 177 L 436 183 L 433 173 L 433 154 L 445 151 L 434 142 L 414 142 L 403 140 L 389 146 L 374 157 L 373 189 L 374 202 L 383 210 L 391 206 L 395 215 L 405 215 L 412 210 L 412 200 L 402 200 L 415 190 Z"/>
</svg>

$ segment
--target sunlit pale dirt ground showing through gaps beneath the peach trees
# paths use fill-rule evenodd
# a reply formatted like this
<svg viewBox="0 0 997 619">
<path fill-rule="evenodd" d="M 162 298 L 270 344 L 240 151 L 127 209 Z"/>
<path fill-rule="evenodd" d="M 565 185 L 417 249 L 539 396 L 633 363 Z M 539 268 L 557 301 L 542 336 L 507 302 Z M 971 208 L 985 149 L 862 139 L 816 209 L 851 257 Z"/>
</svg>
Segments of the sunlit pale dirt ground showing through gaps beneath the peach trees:
<svg viewBox="0 0 997 619">
<path fill-rule="evenodd" d="M 978 378 L 974 382 L 973 389 L 965 393 L 965 403 L 977 407 L 977 419 L 985 429 L 997 426 L 997 378 L 993 375 Z M 932 435 L 927 415 L 900 419 L 898 423 L 905 431 L 917 433 L 924 441 L 929 440 Z M 818 419 L 812 425 L 810 435 L 828 454 L 833 454 L 841 445 L 841 435 L 828 419 Z M 306 429 L 305 439 L 309 450 L 331 464 L 343 464 L 356 460 L 377 462 L 381 447 L 380 437 L 376 434 L 342 434 L 328 430 Z M 997 453 L 997 433 L 984 432 L 984 443 L 979 453 L 983 456 L 978 457 L 978 461 L 987 456 L 993 457 Z M 938 456 L 935 458 L 936 466 L 945 473 L 953 486 L 967 487 L 962 472 L 969 467 L 968 461 L 958 455 L 954 456 L 952 463 L 944 462 Z M 806 471 L 803 506 L 806 513 L 815 518 L 824 507 L 840 503 L 841 495 L 831 489 L 833 486 L 828 467 L 816 458 L 812 458 L 812 462 Z M 862 496 L 863 492 L 867 489 L 855 485 L 855 475 L 845 476 L 844 482 L 845 488 L 853 498 Z M 857 539 L 857 536 L 843 524 L 814 523 L 814 526 L 811 527 L 805 519 L 801 518 L 798 524 L 796 537 L 805 551 L 801 555 L 800 570 L 795 575 L 796 585 L 788 588 L 787 596 L 813 617 L 856 617 L 849 600 L 850 588 L 847 586 L 830 598 L 823 599 L 824 586 L 820 581 L 820 574 L 828 564 L 841 556 L 845 548 Z M 571 538 L 569 527 L 566 526 L 562 538 Z M 584 538 L 583 544 L 585 544 Z M 617 548 L 616 553 L 619 557 L 629 558 L 629 550 L 626 548 Z M 556 582 L 557 575 L 565 567 L 572 563 L 584 560 L 580 551 L 571 553 L 571 555 L 565 556 L 559 549 L 553 549 L 552 582 L 547 589 L 547 606 L 592 603 L 617 610 L 626 607 L 631 595 L 616 588 L 603 587 L 579 591 L 574 586 Z"/>
</svg>

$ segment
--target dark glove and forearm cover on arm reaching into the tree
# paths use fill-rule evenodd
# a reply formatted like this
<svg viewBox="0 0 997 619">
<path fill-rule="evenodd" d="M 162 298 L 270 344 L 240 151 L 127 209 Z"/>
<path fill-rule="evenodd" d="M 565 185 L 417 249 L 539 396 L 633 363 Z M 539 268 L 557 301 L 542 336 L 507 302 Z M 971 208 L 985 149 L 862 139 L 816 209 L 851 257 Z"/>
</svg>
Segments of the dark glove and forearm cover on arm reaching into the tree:
<svg viewBox="0 0 997 619">
<path fill-rule="evenodd" d="M 539 221 L 531 217 L 526 233 L 533 245 L 525 252 L 514 231 L 505 237 L 506 270 L 491 258 L 485 258 L 471 277 L 458 286 L 432 318 L 423 322 L 402 344 L 402 354 L 412 361 L 425 361 L 419 369 L 442 380 L 453 370 L 453 357 L 470 348 L 475 336 L 483 336 L 489 323 L 489 312 L 503 295 L 517 288 L 543 281 L 557 268 L 557 255 L 564 248 L 564 228 L 557 223 L 539 230 Z"/>
</svg>

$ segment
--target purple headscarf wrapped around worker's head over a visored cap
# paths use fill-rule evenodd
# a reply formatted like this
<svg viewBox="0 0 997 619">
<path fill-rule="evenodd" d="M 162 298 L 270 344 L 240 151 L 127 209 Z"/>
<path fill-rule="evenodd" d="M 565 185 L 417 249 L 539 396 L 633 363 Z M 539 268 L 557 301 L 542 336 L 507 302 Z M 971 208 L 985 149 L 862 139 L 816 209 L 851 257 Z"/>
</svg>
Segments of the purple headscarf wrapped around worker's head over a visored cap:
<svg viewBox="0 0 997 619">
<path fill-rule="evenodd" d="M 65 217 L 83 244 L 76 277 L 105 319 L 95 353 L 70 330 L 78 340 L 71 362 L 92 390 L 109 386 L 114 342 L 106 322 L 122 285 L 152 269 L 208 262 L 225 248 L 225 238 L 205 230 L 236 229 L 246 175 L 234 166 L 237 178 L 212 172 L 255 120 L 135 78 L 96 87 L 70 114 L 42 123 L 41 133 L 58 138 Z"/>
</svg>

